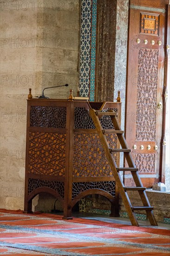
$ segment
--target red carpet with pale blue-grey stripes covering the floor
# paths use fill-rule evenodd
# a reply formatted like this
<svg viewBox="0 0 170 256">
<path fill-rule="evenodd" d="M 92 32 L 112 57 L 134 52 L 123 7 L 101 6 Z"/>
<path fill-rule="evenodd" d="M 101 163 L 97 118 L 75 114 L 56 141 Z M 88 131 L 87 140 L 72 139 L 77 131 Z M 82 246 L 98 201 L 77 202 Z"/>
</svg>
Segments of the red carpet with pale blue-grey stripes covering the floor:
<svg viewBox="0 0 170 256">
<path fill-rule="evenodd" d="M 170 256 L 170 230 L 0 210 L 2 256 Z"/>
</svg>

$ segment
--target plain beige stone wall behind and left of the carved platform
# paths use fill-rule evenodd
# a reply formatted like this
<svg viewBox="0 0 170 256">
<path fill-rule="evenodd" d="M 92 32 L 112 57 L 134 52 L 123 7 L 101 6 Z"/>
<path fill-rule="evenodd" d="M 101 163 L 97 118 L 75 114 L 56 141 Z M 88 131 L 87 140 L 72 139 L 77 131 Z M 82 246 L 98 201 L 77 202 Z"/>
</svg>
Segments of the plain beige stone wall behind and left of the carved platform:
<svg viewBox="0 0 170 256">
<path fill-rule="evenodd" d="M 0 25 L 0 207 L 23 209 L 27 95 L 77 94 L 79 0 L 3 1 Z"/>
</svg>

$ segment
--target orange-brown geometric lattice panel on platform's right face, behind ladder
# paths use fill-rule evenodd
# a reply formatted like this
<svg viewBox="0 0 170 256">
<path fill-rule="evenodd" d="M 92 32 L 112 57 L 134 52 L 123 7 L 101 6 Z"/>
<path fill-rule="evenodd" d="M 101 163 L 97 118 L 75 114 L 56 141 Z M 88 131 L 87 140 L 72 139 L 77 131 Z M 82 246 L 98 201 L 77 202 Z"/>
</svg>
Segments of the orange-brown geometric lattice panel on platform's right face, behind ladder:
<svg viewBox="0 0 170 256">
<path fill-rule="evenodd" d="M 117 148 L 117 136 L 106 135 L 111 148 Z M 76 134 L 73 144 L 73 176 L 113 175 L 100 139 L 96 134 Z M 114 154 L 116 161 L 116 154 Z"/>
</svg>

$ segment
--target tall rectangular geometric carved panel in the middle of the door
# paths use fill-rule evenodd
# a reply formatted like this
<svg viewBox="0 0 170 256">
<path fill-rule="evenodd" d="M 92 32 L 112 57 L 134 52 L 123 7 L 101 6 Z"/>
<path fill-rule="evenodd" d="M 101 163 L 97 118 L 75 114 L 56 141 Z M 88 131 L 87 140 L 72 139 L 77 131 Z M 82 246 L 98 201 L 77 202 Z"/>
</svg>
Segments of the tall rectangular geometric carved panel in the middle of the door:
<svg viewBox="0 0 170 256">
<path fill-rule="evenodd" d="M 155 141 L 158 50 L 139 49 L 136 140 Z"/>
</svg>

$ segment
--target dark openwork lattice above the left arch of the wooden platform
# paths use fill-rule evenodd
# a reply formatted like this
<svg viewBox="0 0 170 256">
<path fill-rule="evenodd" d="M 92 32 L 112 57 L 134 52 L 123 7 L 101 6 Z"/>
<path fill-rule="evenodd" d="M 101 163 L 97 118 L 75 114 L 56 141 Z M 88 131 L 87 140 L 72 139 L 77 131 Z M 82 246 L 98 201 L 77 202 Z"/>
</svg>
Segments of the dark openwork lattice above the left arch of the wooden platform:
<svg viewBox="0 0 170 256">
<path fill-rule="evenodd" d="M 57 191 L 64 198 L 64 182 L 46 181 L 39 179 L 28 179 L 28 195 L 38 188 L 49 188 Z"/>
</svg>

